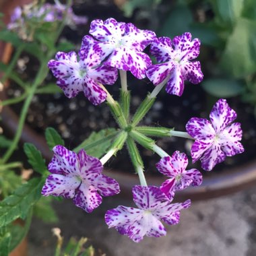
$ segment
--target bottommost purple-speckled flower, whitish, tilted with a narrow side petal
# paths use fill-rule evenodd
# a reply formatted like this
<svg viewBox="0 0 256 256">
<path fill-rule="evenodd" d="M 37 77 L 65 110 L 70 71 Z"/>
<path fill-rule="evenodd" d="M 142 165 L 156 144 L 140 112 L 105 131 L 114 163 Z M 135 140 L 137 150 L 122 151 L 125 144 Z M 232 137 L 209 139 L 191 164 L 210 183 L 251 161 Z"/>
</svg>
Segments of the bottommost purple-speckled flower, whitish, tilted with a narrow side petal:
<svg viewBox="0 0 256 256">
<path fill-rule="evenodd" d="M 177 224 L 180 210 L 190 206 L 190 200 L 170 203 L 168 197 L 154 186 L 134 186 L 133 201 L 139 209 L 119 205 L 106 212 L 105 221 L 109 228 L 116 228 L 120 234 L 129 236 L 136 243 L 145 235 L 166 235 L 166 229 L 160 220 L 169 225 Z"/>
</svg>

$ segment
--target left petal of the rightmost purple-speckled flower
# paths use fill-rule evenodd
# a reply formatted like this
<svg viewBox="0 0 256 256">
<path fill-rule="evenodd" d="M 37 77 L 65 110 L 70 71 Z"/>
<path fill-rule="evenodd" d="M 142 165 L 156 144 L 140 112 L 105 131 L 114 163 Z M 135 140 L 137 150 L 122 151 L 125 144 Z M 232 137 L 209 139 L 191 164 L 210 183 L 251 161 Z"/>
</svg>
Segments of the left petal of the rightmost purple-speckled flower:
<svg viewBox="0 0 256 256">
<path fill-rule="evenodd" d="M 212 142 L 216 132 L 212 124 L 207 119 L 192 117 L 186 125 L 186 130 L 191 137 L 205 141 L 205 143 Z"/>
</svg>

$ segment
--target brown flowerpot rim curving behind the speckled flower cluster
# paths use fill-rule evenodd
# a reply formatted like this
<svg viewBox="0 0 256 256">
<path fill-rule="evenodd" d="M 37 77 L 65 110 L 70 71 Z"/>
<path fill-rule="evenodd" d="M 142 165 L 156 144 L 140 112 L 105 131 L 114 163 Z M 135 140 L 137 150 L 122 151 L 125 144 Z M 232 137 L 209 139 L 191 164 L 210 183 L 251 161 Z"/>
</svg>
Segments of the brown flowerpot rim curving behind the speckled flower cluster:
<svg viewBox="0 0 256 256">
<path fill-rule="evenodd" d="M 1 0 L 0 0 L 1 1 Z M 29 0 L 24 0 L 22 2 L 28 2 Z M 8 1 L 9 3 L 10 1 Z M 18 2 L 21 1 L 11 1 Z M 0 2 L 1 3 L 1 2 Z M 1 5 L 0 5 L 1 6 Z M 15 5 L 11 5 L 15 6 Z M 6 45 L 5 45 L 6 46 Z M 3 47 L 3 45 L 2 45 Z M 3 49 L 3 48 L 2 48 Z M 0 54 L 1 54 L 0 49 Z M 5 56 L 5 59 L 7 57 Z M 0 98 L 5 98 L 4 92 L 0 94 Z M 1 113 L 3 125 L 5 129 L 8 129 L 11 133 L 15 134 L 15 131 L 18 127 L 18 116 L 9 108 L 5 106 Z M 49 151 L 49 148 L 44 140 L 44 137 L 36 134 L 28 125 L 24 126 L 21 137 L 22 142 L 34 143 L 36 148 L 42 152 L 42 155 L 47 160 L 50 160 L 52 153 Z M 131 187 L 138 183 L 137 176 L 135 174 L 124 174 L 118 170 L 106 170 L 110 177 L 113 177 L 119 181 L 121 186 L 121 196 L 131 197 Z M 164 177 L 146 177 L 149 185 L 160 185 L 164 181 Z M 224 170 L 222 174 L 212 172 L 209 177 L 203 179 L 203 184 L 200 187 L 189 187 L 183 191 L 177 193 L 175 198 L 177 199 L 193 199 L 201 200 L 208 199 L 212 197 L 219 197 L 221 195 L 226 195 L 228 193 L 234 193 L 241 189 L 245 189 L 250 185 L 256 183 L 256 161 L 250 162 L 243 166 L 238 166 L 233 170 Z"/>
</svg>

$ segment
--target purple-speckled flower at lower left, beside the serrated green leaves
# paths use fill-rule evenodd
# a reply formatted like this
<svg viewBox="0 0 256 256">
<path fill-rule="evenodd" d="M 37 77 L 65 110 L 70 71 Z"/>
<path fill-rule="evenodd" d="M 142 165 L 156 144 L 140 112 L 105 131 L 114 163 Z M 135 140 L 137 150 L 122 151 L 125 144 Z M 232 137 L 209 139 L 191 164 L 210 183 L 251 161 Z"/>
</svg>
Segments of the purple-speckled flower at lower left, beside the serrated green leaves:
<svg viewBox="0 0 256 256">
<path fill-rule="evenodd" d="M 103 166 L 84 150 L 78 154 L 63 146 L 53 148 L 53 159 L 48 168 L 53 174 L 47 177 L 42 195 L 73 198 L 76 206 L 86 212 L 92 212 L 102 202 L 102 196 L 120 192 L 119 184 L 114 179 L 102 174 Z"/>
</svg>

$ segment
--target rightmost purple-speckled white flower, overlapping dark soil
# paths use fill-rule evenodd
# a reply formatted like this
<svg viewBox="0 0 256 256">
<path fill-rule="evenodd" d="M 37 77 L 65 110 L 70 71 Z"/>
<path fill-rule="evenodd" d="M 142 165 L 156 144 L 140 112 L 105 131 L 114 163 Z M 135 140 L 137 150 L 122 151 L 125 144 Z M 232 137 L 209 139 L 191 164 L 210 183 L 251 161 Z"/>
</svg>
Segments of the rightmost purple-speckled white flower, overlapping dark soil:
<svg viewBox="0 0 256 256">
<path fill-rule="evenodd" d="M 226 156 L 244 152 L 240 123 L 232 123 L 236 112 L 228 106 L 226 100 L 220 99 L 210 113 L 210 121 L 193 117 L 186 125 L 187 133 L 195 139 L 191 148 L 193 162 L 201 158 L 204 170 L 212 170 L 223 162 Z M 230 123 L 232 123 L 230 125 Z"/>
</svg>

